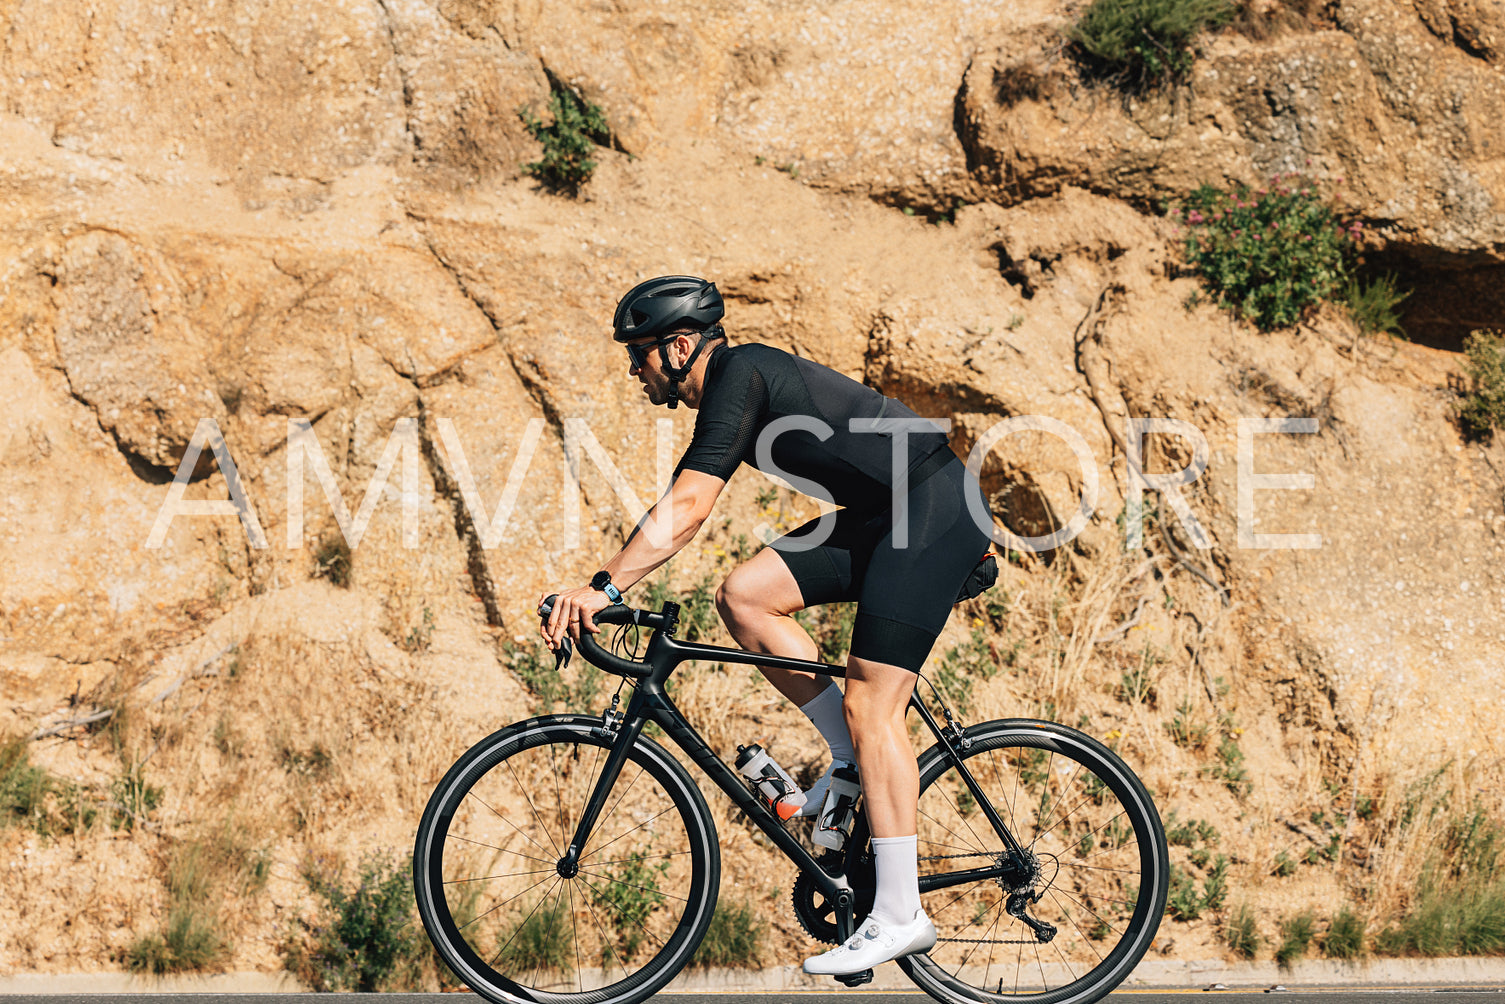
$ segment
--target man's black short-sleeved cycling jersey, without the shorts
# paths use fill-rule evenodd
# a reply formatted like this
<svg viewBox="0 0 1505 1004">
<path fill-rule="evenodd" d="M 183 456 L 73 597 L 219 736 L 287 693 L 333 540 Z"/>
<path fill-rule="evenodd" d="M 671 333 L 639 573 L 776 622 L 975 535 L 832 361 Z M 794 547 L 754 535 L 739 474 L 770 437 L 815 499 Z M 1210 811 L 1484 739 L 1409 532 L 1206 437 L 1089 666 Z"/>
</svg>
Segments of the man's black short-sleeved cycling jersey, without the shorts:
<svg viewBox="0 0 1505 1004">
<path fill-rule="evenodd" d="M 695 435 L 674 473 L 701 471 L 728 480 L 739 464 L 748 464 L 807 494 L 814 494 L 808 485 L 814 482 L 838 506 L 886 509 L 898 474 L 944 449 L 947 434 L 933 421 L 906 432 L 876 432 L 873 418 L 918 415 L 871 387 L 783 349 L 757 343 L 721 348 L 706 369 Z M 898 435 L 905 441 L 895 462 Z"/>
</svg>

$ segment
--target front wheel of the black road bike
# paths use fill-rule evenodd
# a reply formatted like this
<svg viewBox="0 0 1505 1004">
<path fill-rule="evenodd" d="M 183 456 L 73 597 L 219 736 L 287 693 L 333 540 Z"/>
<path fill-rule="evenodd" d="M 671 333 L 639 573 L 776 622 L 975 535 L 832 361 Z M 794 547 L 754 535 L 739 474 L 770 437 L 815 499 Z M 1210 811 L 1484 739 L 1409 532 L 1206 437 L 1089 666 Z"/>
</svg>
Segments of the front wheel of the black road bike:
<svg viewBox="0 0 1505 1004">
<path fill-rule="evenodd" d="M 495 1004 L 637 1004 L 700 945 L 721 850 L 700 789 L 640 736 L 579 870 L 555 867 L 619 733 L 551 715 L 476 744 L 439 781 L 412 855 L 439 957 Z"/>
</svg>

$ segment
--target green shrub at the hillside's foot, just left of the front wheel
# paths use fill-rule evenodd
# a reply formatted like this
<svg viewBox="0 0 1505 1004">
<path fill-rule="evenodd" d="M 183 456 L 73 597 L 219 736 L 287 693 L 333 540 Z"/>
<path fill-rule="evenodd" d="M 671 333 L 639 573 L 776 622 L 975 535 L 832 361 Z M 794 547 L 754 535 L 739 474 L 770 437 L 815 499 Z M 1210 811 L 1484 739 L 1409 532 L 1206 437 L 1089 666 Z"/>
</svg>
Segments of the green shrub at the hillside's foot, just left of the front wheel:
<svg viewBox="0 0 1505 1004">
<path fill-rule="evenodd" d="M 390 855 L 361 861 L 354 890 L 342 875 L 306 867 L 304 881 L 324 906 L 322 923 L 303 923 L 307 945 L 287 947 L 287 968 L 316 990 L 409 989 L 423 959 L 421 929 L 412 917 L 408 863 Z"/>
</svg>

